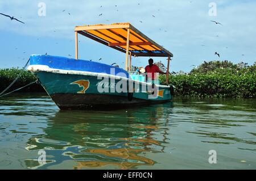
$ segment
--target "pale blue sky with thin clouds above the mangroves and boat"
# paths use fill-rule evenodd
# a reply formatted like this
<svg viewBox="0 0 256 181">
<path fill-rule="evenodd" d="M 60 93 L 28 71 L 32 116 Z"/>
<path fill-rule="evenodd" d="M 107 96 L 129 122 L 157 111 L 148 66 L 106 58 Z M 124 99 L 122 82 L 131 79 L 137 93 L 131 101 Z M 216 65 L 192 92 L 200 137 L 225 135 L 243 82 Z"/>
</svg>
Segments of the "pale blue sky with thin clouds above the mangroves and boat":
<svg viewBox="0 0 256 181">
<path fill-rule="evenodd" d="M 38 15 L 40 2 L 46 4 L 46 16 Z M 209 16 L 210 2 L 216 3 L 217 16 Z M 255 7 L 253 0 L 1 0 L 1 13 L 26 24 L 0 16 L 0 68 L 21 67 L 30 54 L 47 52 L 75 57 L 75 26 L 117 22 L 130 22 L 170 50 L 174 54 L 172 71 L 190 71 L 191 65 L 210 60 L 243 61 L 251 65 L 256 61 Z M 102 16 L 98 16 L 101 13 Z M 224 26 L 217 26 L 210 20 Z M 116 62 L 124 67 L 125 54 L 83 36 L 79 36 L 79 40 L 79 58 L 96 61 L 102 58 L 101 62 Z M 214 52 L 220 53 L 221 57 Z M 146 66 L 147 59 L 137 57 L 132 62 L 135 66 Z M 154 60 L 166 64 L 166 58 L 155 57 Z"/>
</svg>

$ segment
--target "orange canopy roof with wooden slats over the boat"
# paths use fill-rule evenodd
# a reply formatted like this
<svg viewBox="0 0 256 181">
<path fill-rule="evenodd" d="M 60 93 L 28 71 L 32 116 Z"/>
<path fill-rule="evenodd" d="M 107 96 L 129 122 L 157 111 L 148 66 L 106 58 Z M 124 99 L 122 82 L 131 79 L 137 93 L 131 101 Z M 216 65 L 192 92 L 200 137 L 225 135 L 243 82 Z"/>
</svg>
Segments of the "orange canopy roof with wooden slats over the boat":
<svg viewBox="0 0 256 181">
<path fill-rule="evenodd" d="M 128 48 L 132 56 L 173 56 L 171 52 L 138 31 L 130 23 L 76 26 L 75 31 L 123 53 L 126 53 Z M 127 43 L 127 39 L 130 40 L 129 43 Z"/>
</svg>

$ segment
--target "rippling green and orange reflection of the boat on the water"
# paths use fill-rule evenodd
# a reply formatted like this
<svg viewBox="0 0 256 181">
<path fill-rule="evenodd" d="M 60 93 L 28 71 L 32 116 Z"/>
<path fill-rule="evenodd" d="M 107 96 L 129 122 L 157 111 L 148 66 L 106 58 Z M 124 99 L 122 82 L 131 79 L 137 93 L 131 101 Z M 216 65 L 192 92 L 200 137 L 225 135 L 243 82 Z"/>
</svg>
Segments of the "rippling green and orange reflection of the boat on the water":
<svg viewBox="0 0 256 181">
<path fill-rule="evenodd" d="M 113 112 L 59 111 L 49 117 L 45 135 L 32 137 L 27 150 L 44 149 L 55 162 L 73 161 L 70 169 L 136 169 L 156 162 L 148 153 L 164 151 L 171 104 Z M 162 125 L 163 127 L 163 125 Z M 159 132 L 161 137 L 156 137 Z M 28 167 L 29 165 L 27 165 Z"/>
</svg>

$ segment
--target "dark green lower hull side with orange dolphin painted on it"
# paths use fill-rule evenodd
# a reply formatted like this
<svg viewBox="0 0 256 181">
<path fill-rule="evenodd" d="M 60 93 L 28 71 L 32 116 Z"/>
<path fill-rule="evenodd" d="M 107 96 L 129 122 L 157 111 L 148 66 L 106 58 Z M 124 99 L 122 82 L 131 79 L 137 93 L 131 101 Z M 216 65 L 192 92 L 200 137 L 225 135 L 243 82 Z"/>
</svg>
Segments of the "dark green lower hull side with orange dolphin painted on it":
<svg viewBox="0 0 256 181">
<path fill-rule="evenodd" d="M 122 78 L 102 81 L 94 75 L 61 74 L 47 71 L 35 71 L 34 75 L 61 110 L 111 109 L 162 103 L 170 101 L 173 96 L 170 86 L 155 85 L 155 89 L 158 88 L 158 90 L 150 89 L 148 91 L 149 87 L 152 87 L 150 83 L 128 79 L 129 85 L 127 78 L 125 78 L 126 81 L 123 81 Z M 127 85 L 122 85 L 120 81 L 127 82 L 129 86 L 133 85 L 133 91 L 127 92 Z M 123 91 L 115 90 L 116 87 Z"/>
</svg>

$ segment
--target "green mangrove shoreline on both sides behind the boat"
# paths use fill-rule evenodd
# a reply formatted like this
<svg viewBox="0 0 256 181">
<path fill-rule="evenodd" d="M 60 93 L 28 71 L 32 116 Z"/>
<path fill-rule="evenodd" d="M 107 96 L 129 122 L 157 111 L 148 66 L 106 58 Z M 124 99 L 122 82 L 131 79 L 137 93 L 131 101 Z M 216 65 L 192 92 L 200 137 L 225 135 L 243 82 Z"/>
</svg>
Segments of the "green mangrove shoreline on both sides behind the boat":
<svg viewBox="0 0 256 181">
<path fill-rule="evenodd" d="M 0 91 L 3 91 L 18 76 L 20 69 L 0 69 Z M 159 76 L 166 82 L 166 75 Z M 32 73 L 24 71 L 17 82 L 7 91 L 13 91 L 36 81 Z M 170 84 L 176 87 L 175 96 L 210 98 L 256 98 L 256 65 L 246 66 L 231 62 L 205 62 L 191 73 L 169 75 Z M 6 93 L 7 93 L 6 92 Z M 34 83 L 18 92 L 46 92 L 40 84 Z"/>
</svg>

